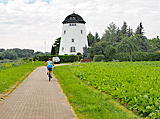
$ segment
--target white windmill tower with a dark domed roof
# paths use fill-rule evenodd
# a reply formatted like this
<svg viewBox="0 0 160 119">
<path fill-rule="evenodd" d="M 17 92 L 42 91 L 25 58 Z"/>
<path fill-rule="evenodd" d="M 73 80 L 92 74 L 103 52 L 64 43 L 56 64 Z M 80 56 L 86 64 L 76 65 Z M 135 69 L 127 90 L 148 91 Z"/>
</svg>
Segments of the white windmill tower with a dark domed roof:
<svg viewBox="0 0 160 119">
<path fill-rule="evenodd" d="M 83 48 L 88 47 L 85 21 L 74 12 L 68 15 L 62 22 L 62 36 L 60 42 L 59 55 L 83 54 Z"/>
</svg>

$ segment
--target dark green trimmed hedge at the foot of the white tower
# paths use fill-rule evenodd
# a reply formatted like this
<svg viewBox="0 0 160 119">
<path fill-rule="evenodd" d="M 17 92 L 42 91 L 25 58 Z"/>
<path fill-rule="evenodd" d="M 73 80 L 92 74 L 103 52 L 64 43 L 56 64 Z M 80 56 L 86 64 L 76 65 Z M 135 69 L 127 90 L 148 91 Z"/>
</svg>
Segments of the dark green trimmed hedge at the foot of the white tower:
<svg viewBox="0 0 160 119">
<path fill-rule="evenodd" d="M 47 61 L 48 58 L 59 57 L 61 62 L 75 62 L 81 59 L 81 55 L 40 55 L 39 61 Z"/>
</svg>

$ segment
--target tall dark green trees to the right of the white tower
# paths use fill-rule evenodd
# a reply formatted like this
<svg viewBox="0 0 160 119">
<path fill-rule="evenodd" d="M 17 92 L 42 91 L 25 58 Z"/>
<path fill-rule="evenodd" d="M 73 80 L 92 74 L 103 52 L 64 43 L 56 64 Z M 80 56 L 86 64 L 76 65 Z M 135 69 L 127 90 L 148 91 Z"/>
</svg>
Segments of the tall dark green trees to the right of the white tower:
<svg viewBox="0 0 160 119">
<path fill-rule="evenodd" d="M 124 21 L 121 28 L 117 27 L 113 22 L 109 24 L 102 38 L 96 32 L 95 36 L 89 32 L 87 35 L 89 48 L 87 50 L 88 58 L 95 55 L 103 55 L 105 61 L 112 61 L 117 54 L 129 54 L 132 61 L 133 54 L 144 52 L 160 51 L 159 36 L 153 39 L 147 39 L 144 35 L 144 27 L 142 22 L 133 31 Z"/>
</svg>

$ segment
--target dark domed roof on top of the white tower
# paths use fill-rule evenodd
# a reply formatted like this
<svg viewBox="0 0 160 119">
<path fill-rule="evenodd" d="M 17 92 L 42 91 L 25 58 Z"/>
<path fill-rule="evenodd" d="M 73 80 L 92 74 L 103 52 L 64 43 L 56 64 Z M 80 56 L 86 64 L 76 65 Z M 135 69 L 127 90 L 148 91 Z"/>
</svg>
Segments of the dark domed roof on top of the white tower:
<svg viewBox="0 0 160 119">
<path fill-rule="evenodd" d="M 86 22 L 83 20 L 83 18 L 81 16 L 73 13 L 73 14 L 68 15 L 62 23 L 63 24 L 66 24 L 66 23 L 83 23 L 83 24 L 85 24 Z"/>
</svg>

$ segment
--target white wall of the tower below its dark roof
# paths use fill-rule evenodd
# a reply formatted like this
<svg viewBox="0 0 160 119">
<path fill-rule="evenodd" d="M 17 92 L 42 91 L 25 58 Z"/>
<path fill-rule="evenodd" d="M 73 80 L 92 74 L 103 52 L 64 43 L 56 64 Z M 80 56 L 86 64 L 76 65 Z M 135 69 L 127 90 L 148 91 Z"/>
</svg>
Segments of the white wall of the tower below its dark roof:
<svg viewBox="0 0 160 119">
<path fill-rule="evenodd" d="M 74 26 L 70 26 L 70 24 L 73 24 Z M 64 31 L 66 33 L 64 33 Z M 74 39 L 74 42 L 72 42 L 72 39 Z M 82 23 L 63 24 L 59 55 L 64 55 L 64 54 L 76 55 L 77 53 L 83 54 L 83 47 L 85 47 L 85 45 L 88 47 L 85 24 Z M 76 52 L 70 52 L 70 47 L 75 47 Z"/>
</svg>

